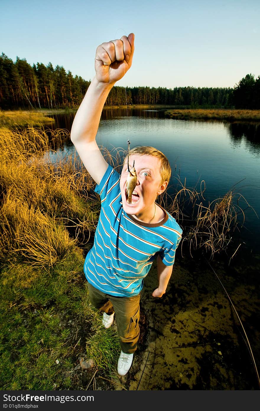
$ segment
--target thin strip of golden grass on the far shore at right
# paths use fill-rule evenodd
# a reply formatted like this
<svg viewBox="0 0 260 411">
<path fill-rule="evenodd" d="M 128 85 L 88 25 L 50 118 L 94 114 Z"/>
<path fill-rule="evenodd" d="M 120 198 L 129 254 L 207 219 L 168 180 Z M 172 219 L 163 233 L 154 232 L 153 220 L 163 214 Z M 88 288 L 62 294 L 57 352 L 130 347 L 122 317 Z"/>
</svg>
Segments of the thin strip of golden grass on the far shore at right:
<svg viewBox="0 0 260 411">
<path fill-rule="evenodd" d="M 236 109 L 172 109 L 165 112 L 169 118 L 178 119 L 216 119 L 227 121 L 260 121 L 260 110 Z"/>
</svg>

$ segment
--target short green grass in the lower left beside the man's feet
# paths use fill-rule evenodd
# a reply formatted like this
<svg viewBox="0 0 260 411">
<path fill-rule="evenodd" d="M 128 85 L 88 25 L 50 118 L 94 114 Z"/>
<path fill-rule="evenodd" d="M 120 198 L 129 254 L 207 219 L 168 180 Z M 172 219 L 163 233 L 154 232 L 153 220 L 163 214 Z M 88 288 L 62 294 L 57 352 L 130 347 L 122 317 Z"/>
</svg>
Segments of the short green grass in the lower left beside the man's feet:
<svg viewBox="0 0 260 411">
<path fill-rule="evenodd" d="M 74 249 L 48 272 L 27 263 L 2 270 L 0 389 L 86 389 L 97 369 L 109 389 L 101 377 L 114 366 L 119 341 L 91 306 L 82 267 Z"/>
</svg>

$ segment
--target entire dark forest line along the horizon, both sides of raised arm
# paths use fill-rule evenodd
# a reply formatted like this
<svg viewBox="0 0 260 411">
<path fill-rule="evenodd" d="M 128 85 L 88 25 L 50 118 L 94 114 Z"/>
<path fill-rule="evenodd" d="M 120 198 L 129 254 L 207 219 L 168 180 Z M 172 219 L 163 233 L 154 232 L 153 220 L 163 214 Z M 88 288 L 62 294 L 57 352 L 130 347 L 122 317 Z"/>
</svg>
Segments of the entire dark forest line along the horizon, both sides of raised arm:
<svg viewBox="0 0 260 411">
<path fill-rule="evenodd" d="M 0 106 L 14 108 L 77 108 L 90 81 L 51 63 L 31 66 L 26 59 L 13 62 L 0 56 Z M 196 107 L 260 108 L 260 76 L 247 74 L 235 88 L 208 87 L 120 87 L 115 86 L 106 100 L 108 106 L 162 104 Z"/>
</svg>

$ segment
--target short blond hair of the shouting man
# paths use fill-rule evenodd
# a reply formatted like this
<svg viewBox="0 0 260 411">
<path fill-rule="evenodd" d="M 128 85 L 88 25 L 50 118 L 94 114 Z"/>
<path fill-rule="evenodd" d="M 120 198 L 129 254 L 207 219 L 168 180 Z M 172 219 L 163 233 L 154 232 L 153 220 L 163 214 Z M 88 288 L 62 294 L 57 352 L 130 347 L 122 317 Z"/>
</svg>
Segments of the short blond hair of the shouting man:
<svg viewBox="0 0 260 411">
<path fill-rule="evenodd" d="M 150 147 L 147 145 L 140 145 L 130 150 L 129 155 L 134 155 L 134 154 L 152 155 L 153 157 L 159 158 L 159 160 L 161 161 L 161 167 L 160 167 L 161 184 L 164 181 L 167 181 L 167 182 L 170 181 L 170 177 L 172 174 L 170 163 L 169 163 L 168 158 L 161 151 L 157 150 L 157 148 L 154 148 L 154 147 Z M 124 159 L 124 162 L 125 161 L 127 161 L 127 156 Z"/>
</svg>

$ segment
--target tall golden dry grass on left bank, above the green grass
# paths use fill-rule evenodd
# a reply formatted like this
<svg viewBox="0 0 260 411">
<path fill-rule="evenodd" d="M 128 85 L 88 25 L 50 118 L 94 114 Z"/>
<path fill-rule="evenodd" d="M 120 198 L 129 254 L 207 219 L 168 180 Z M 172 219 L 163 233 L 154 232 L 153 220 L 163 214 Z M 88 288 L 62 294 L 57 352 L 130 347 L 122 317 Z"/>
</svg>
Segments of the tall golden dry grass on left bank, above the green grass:
<svg viewBox="0 0 260 411">
<path fill-rule="evenodd" d="M 44 155 L 67 132 L 47 134 L 0 129 L 0 261 L 52 267 L 76 244 L 87 242 L 97 224 L 94 182 L 74 156 L 48 162 Z"/>
</svg>

